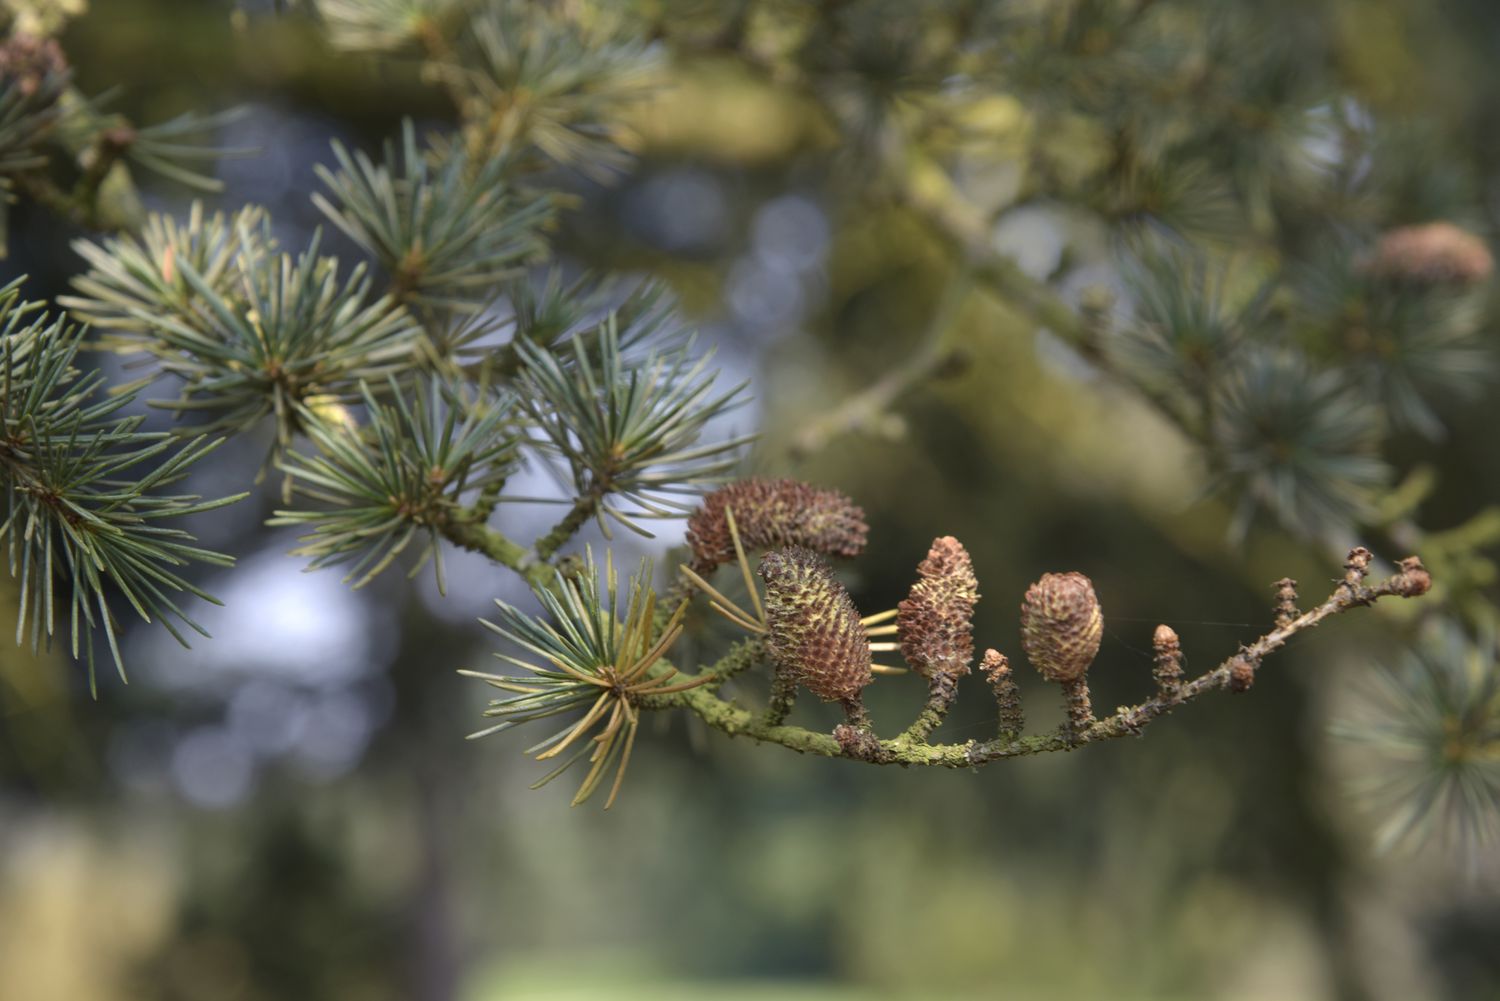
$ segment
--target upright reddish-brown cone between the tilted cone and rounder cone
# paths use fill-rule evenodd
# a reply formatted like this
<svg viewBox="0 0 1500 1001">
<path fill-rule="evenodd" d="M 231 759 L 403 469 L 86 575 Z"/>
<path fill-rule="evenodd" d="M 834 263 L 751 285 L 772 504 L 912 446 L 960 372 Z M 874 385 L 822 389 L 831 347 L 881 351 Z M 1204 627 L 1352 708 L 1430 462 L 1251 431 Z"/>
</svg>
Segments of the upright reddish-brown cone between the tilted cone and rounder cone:
<svg viewBox="0 0 1500 1001">
<path fill-rule="evenodd" d="M 969 672 L 974 660 L 974 603 L 980 584 L 969 552 L 952 536 L 933 542 L 916 567 L 916 584 L 897 605 L 902 656 L 926 678 Z"/>
</svg>

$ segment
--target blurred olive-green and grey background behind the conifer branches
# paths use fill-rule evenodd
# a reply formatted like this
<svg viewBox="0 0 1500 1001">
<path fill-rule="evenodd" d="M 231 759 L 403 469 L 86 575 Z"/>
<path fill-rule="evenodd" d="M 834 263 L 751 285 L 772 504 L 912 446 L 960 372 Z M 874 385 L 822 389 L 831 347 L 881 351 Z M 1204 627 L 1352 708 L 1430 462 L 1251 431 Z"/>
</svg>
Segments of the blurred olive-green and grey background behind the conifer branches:
<svg viewBox="0 0 1500 1001">
<path fill-rule="evenodd" d="M 460 740 L 483 695 L 453 669 L 486 665 L 474 620 L 525 599 L 514 578 L 453 552 L 446 597 L 400 575 L 351 593 L 284 555 L 262 483 L 195 524 L 240 555 L 206 578 L 226 602 L 201 617 L 213 641 L 132 633 L 132 683 L 98 701 L 56 656 L 0 650 L 4 996 L 1500 996 L 1494 842 L 1438 831 L 1378 854 L 1401 819 L 1360 788 L 1404 780 L 1392 746 L 1329 735 L 1335 719 L 1400 735 L 1389 705 L 1428 732 L 1455 699 L 1492 726 L 1494 294 L 1392 303 L 1360 257 L 1404 224 L 1500 231 L 1490 0 L 570 2 L 639 38 L 522 66 L 496 15 L 472 39 L 477 83 L 382 29 L 458 5 L 327 0 L 328 26 L 273 3 L 4 6 L 62 27 L 74 84 L 123 84 L 111 107 L 132 122 L 244 107 L 218 138 L 258 153 L 212 165 L 208 204 L 264 206 L 290 248 L 326 224 L 316 165 L 357 171 L 346 150 L 378 156 L 404 119 L 452 128 L 456 107 L 489 123 L 465 153 L 490 158 L 522 126 L 486 116 L 524 81 L 556 113 L 524 128 L 572 164 L 537 168 L 570 194 L 556 257 L 670 282 L 718 363 L 753 378 L 748 468 L 866 506 L 861 605 L 894 605 L 954 534 L 986 596 L 980 642 L 1016 654 L 1026 584 L 1083 570 L 1108 627 L 1101 705 L 1149 684 L 1155 623 L 1206 668 L 1269 623 L 1270 581 L 1322 594 L 1352 540 L 1419 551 L 1442 584 L 1438 621 L 1416 603 L 1340 620 L 1246 698 L 982 774 L 646 719 L 600 813 L 567 810 L 564 783 L 528 792 L 522 744 Z M 46 24 L 58 11 L 81 17 Z M 570 125 L 594 120 L 612 128 Z M 184 210 L 180 185 L 136 180 L 147 207 Z M 111 222 L 27 198 L 9 216 L 6 276 L 28 273 L 33 299 L 82 270 L 80 225 Z M 351 260 L 380 243 L 324 228 Z M 1082 320 L 1042 303 L 1038 332 L 1036 282 Z M 1416 306 L 1442 315 L 1346 312 Z M 1184 359 L 1234 386 L 1194 395 Z M 1365 395 L 1346 401 L 1348 383 Z M 1310 465 L 1268 467 L 1263 440 L 1220 431 L 1286 420 L 1323 443 Z M 248 488 L 262 431 L 200 489 Z M 552 513 L 507 518 L 528 536 Z M 902 683 L 878 686 L 876 719 L 916 698 Z M 1023 686 L 1034 725 L 1054 722 Z M 992 725 L 970 702 L 946 738 Z M 798 716 L 831 726 L 819 710 Z M 1492 729 L 1476 740 L 1494 753 Z"/>
</svg>

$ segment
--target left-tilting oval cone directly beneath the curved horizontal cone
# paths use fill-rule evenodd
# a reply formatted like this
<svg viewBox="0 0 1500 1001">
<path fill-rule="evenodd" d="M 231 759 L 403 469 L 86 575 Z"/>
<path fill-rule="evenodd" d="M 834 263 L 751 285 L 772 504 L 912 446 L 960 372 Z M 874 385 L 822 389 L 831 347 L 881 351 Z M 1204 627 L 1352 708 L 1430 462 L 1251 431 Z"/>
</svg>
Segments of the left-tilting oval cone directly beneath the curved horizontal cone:
<svg viewBox="0 0 1500 1001">
<path fill-rule="evenodd" d="M 849 593 L 822 558 L 802 548 L 760 561 L 771 656 L 826 702 L 860 698 L 872 680 L 870 641 Z"/>
</svg>

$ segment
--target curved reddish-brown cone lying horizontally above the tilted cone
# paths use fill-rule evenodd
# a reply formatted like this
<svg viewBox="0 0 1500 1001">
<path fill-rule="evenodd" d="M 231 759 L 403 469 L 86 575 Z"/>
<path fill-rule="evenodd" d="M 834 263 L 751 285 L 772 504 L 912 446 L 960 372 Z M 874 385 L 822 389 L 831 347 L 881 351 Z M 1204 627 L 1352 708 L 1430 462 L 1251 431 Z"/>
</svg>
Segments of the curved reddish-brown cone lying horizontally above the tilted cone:
<svg viewBox="0 0 1500 1001">
<path fill-rule="evenodd" d="M 734 510 L 746 549 L 801 546 L 848 558 L 864 551 L 870 531 L 864 510 L 838 491 L 800 480 L 738 480 L 705 495 L 687 519 L 687 545 L 693 548 L 693 569 L 699 573 L 735 558 L 724 507 Z"/>
</svg>

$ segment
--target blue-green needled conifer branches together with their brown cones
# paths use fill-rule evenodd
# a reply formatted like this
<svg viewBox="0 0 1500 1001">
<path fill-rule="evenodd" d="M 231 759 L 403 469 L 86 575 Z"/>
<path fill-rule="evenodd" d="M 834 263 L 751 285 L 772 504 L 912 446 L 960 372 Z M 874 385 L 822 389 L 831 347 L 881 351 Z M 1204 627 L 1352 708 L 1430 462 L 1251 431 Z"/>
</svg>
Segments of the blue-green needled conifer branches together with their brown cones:
<svg viewBox="0 0 1500 1001">
<path fill-rule="evenodd" d="M 1248 690 L 1300 630 L 1436 587 L 1424 617 L 1458 639 L 1407 665 L 1416 680 L 1388 687 L 1386 722 L 1366 732 L 1473 743 L 1464 761 L 1479 764 L 1406 780 L 1416 798 L 1398 807 L 1400 834 L 1432 809 L 1461 813 L 1468 833 L 1496 828 L 1500 702 L 1494 636 L 1478 629 L 1492 594 L 1468 548 L 1414 518 L 1420 483 L 1390 489 L 1394 443 L 1438 440 L 1490 384 L 1492 258 L 1461 206 L 1396 218 L 1388 125 L 1338 80 L 1298 71 L 1332 60 L 1264 45 L 1240 72 L 1215 72 L 1226 47 L 1244 50 L 1240 6 L 1149 0 L 304 0 L 267 17 L 300 18 L 339 51 L 417 60 L 450 104 L 448 126 L 406 122 L 378 152 L 336 143 L 318 168 L 312 201 L 360 260 L 318 236 L 280 246 L 256 206 L 142 218 L 118 200 L 130 168 L 212 186 L 202 164 L 230 150 L 202 140 L 224 117 L 126 122 L 74 90 L 54 39 L 12 24 L 0 42 L 0 186 L 93 231 L 58 303 L 69 314 L 18 284 L 0 291 L 0 540 L 20 581 L 18 639 L 63 641 L 92 675 L 99 642 L 123 671 L 122 614 L 178 638 L 196 629 L 189 603 L 212 599 L 192 564 L 230 560 L 180 519 L 236 498 L 176 485 L 220 437 L 268 431 L 273 524 L 306 530 L 310 567 L 346 566 L 358 587 L 430 561 L 441 585 L 442 551 L 460 546 L 531 585 L 536 603 L 500 602 L 486 623 L 507 669 L 470 672 L 502 693 L 482 734 L 558 717 L 531 750 L 562 758 L 554 774 L 585 762 L 574 801 L 606 783 L 615 800 L 656 711 L 804 753 L 956 768 L 1136 735 L 1209 692 Z M 1238 534 L 1269 518 L 1324 557 L 1336 546 L 1332 593 L 1304 611 L 1296 584 L 1278 582 L 1275 627 L 1197 675 L 1176 632 L 1156 627 L 1149 695 L 1096 716 L 1086 678 L 1110 596 L 1083 572 L 1048 573 L 1020 605 L 1026 656 L 1066 710 L 1041 732 L 1024 729 L 1004 653 L 987 648 L 982 677 L 968 678 L 981 587 L 957 539 L 933 542 L 900 608 L 861 614 L 831 560 L 866 551 L 866 512 L 822 485 L 735 479 L 747 387 L 724 384 L 663 287 L 564 279 L 556 260 L 554 234 L 576 219 L 567 179 L 628 173 L 642 101 L 674 60 L 698 59 L 795 92 L 836 140 L 826 170 L 850 204 L 894 204 L 951 254 L 963 276 L 951 300 L 970 288 L 1005 300 L 1154 407 L 1238 510 Z M 987 125 L 1008 102 L 1023 156 Z M 998 198 L 1004 186 L 980 179 L 1017 161 L 1022 192 Z M 1036 276 L 996 249 L 993 227 L 1028 206 L 1068 206 L 1118 281 L 1078 294 L 1070 254 Z M 934 344 L 831 405 L 807 440 L 874 426 L 957 354 L 948 327 L 934 321 Z M 108 392 L 86 345 L 144 365 L 144 378 Z M 170 411 L 172 431 L 147 431 L 136 399 Z M 556 473 L 567 509 L 525 540 L 502 504 L 528 464 Z M 576 552 L 590 522 L 651 536 L 684 516 L 690 557 L 668 584 L 642 566 L 621 590 L 612 552 Z M 1476 545 L 1488 524 L 1476 515 Z M 1372 534 L 1430 549 L 1432 573 L 1408 557 L 1382 575 L 1368 549 L 1350 551 Z M 1448 573 L 1462 593 L 1443 590 Z M 736 632 L 698 665 L 678 642 L 694 603 Z M 878 662 L 896 653 L 906 668 Z M 1444 657 L 1491 680 L 1460 684 Z M 927 701 L 882 735 L 864 693 L 908 669 Z M 764 707 L 723 693 L 758 672 Z M 960 681 L 987 683 L 994 735 L 936 743 Z M 789 725 L 801 689 L 844 722 Z"/>
</svg>

